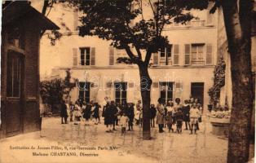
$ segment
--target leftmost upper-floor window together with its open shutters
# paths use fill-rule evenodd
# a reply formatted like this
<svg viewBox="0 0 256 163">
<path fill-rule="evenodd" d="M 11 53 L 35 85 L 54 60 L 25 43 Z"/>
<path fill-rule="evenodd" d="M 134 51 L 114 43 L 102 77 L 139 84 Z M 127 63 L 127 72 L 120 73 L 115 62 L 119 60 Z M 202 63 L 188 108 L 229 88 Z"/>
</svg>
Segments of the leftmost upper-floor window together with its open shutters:
<svg viewBox="0 0 256 163">
<path fill-rule="evenodd" d="M 73 66 L 95 65 L 95 47 L 73 48 Z"/>
</svg>

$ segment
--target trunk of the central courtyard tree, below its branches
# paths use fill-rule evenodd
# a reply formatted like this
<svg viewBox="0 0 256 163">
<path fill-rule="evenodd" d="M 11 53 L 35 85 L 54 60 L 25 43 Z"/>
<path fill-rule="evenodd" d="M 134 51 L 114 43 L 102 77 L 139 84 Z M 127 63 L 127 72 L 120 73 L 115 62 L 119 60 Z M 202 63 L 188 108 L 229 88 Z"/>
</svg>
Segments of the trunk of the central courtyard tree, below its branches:
<svg viewBox="0 0 256 163">
<path fill-rule="evenodd" d="M 152 80 L 148 74 L 148 65 L 139 65 L 140 92 L 143 104 L 143 139 L 151 139 L 150 134 L 150 90 Z"/>
</svg>

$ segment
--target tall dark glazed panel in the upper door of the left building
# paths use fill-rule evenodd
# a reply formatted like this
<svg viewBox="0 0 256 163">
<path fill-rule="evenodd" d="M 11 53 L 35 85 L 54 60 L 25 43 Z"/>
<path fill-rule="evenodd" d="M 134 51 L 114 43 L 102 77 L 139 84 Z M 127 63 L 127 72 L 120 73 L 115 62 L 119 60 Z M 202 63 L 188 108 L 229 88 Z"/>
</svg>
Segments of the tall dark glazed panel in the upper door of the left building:
<svg viewBox="0 0 256 163">
<path fill-rule="evenodd" d="M 14 52 L 7 54 L 7 97 L 20 97 L 21 57 Z"/>
</svg>

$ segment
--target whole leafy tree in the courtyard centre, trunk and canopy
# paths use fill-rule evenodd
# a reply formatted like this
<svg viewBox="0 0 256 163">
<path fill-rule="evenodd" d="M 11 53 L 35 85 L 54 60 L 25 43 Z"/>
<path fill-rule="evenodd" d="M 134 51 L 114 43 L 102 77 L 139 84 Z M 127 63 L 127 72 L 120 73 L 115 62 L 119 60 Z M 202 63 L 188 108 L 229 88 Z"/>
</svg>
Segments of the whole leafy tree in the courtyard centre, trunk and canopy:
<svg viewBox="0 0 256 163">
<path fill-rule="evenodd" d="M 148 73 L 150 59 L 152 53 L 168 44 L 168 38 L 162 35 L 166 24 L 192 20 L 189 12 L 183 12 L 191 8 L 184 2 L 191 4 L 188 0 L 73 2 L 84 13 L 79 27 L 80 36 L 98 36 L 111 41 L 112 46 L 126 50 L 127 58 L 119 59 L 120 62 L 138 65 L 143 101 L 143 139 L 151 138 L 148 112 L 152 85 Z M 201 4 L 201 8 L 207 7 L 208 2 L 204 4 Z"/>
</svg>

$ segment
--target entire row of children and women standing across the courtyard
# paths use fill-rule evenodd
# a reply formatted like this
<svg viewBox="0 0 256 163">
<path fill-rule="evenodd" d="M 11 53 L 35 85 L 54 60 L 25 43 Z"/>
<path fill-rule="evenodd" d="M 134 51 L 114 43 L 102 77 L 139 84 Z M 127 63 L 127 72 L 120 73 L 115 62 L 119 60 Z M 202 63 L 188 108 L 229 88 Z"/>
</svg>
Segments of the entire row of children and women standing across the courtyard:
<svg viewBox="0 0 256 163">
<path fill-rule="evenodd" d="M 157 119 L 159 132 L 163 132 L 163 128 L 166 127 L 168 127 L 169 132 L 174 132 L 173 126 L 176 126 L 177 133 L 182 133 L 184 122 L 185 130 L 191 130 L 191 134 L 194 131 L 196 134 L 196 130 L 199 130 L 198 123 L 201 122 L 201 104 L 199 104 L 198 99 L 194 100 L 193 98 L 184 100 L 184 104 L 180 102 L 180 99 L 177 98 L 174 102 L 168 101 L 165 104 L 164 100 L 159 99 L 157 107 L 151 104 L 149 109 L 150 126 L 155 127 L 155 119 Z M 114 101 L 106 100 L 103 109 L 101 109 L 98 103 L 93 103 L 93 101 L 90 104 L 85 102 L 81 104 L 77 100 L 75 104 L 63 104 L 61 112 L 67 112 L 67 116 L 64 117 L 70 117 L 70 121 L 74 121 L 75 125 L 79 121 L 85 121 L 85 125 L 88 126 L 90 120 L 97 125 L 100 123 L 100 117 L 102 116 L 104 117 L 104 125 L 107 126 L 106 132 L 113 132 L 113 130 L 116 130 L 115 126 L 120 124 L 121 134 L 125 134 L 127 126 L 128 130 L 133 130 L 134 121 L 139 126 L 143 125 L 142 108 L 140 100 L 137 104 L 126 104 L 125 101 L 122 104 L 117 104 Z M 66 119 L 65 122 L 67 123 Z"/>
</svg>

